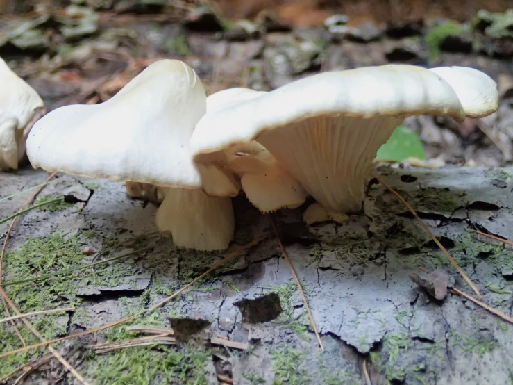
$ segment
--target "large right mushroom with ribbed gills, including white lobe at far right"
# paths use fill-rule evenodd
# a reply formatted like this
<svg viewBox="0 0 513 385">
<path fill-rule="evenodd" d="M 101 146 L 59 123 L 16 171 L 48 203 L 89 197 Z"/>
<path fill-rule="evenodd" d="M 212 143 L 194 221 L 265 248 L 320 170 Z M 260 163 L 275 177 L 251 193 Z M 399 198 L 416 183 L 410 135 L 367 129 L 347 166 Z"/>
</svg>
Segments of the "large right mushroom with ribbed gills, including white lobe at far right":
<svg viewBox="0 0 513 385">
<path fill-rule="evenodd" d="M 480 98 L 471 103 L 465 95 Z M 461 121 L 493 112 L 497 99 L 493 80 L 461 67 L 324 72 L 208 113 L 190 145 L 194 160 L 203 163 L 255 140 L 317 200 L 308 222 L 344 221 L 340 213 L 360 211 L 376 151 L 405 117 L 450 115 Z M 208 137 L 209 131 L 215 136 Z"/>
</svg>

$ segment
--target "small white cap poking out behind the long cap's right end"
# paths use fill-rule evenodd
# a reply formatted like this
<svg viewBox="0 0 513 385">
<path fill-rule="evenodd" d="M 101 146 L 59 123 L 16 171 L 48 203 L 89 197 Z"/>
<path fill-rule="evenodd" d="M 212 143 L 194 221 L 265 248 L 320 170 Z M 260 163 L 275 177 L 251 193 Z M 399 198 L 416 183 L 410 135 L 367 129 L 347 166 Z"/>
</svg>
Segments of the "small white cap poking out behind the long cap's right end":
<svg viewBox="0 0 513 385">
<path fill-rule="evenodd" d="M 451 85 L 467 117 L 484 117 L 497 110 L 498 85 L 487 74 L 469 67 L 438 67 L 430 71 Z"/>
</svg>

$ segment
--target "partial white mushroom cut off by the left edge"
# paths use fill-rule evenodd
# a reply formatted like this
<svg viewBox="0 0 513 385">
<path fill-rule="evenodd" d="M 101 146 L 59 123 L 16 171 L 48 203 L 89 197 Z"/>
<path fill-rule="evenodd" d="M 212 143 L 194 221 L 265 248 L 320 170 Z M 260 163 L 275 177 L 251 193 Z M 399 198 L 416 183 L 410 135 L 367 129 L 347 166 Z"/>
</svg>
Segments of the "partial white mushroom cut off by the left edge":
<svg viewBox="0 0 513 385">
<path fill-rule="evenodd" d="M 26 135 L 44 114 L 43 101 L 1 58 L 0 84 L 0 170 L 17 170 L 25 154 Z"/>
</svg>

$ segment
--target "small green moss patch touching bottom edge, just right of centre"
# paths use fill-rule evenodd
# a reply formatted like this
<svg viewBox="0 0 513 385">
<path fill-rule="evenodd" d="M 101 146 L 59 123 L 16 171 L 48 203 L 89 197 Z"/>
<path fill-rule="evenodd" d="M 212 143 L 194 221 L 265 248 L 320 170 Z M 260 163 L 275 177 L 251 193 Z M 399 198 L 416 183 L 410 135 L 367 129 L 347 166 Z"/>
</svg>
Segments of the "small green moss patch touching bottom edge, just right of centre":
<svg viewBox="0 0 513 385">
<path fill-rule="evenodd" d="M 271 352 L 273 359 L 274 380 L 273 385 L 301 385 L 311 384 L 311 377 L 306 370 L 301 369 L 301 363 L 305 361 L 305 352 L 281 347 Z"/>
</svg>

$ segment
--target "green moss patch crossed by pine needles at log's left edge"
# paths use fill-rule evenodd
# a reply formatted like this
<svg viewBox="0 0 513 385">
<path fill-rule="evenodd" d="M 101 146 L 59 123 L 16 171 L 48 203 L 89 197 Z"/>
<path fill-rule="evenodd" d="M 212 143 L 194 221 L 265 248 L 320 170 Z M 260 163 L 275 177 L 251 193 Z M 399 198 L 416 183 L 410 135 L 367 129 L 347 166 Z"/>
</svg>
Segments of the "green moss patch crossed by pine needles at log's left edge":
<svg viewBox="0 0 513 385">
<path fill-rule="evenodd" d="M 3 266 L 6 281 L 8 279 L 29 279 L 78 265 L 84 257 L 79 238 L 79 234 L 67 238 L 60 231 L 49 236 L 28 239 L 26 243 L 6 254 Z M 75 290 L 80 281 L 78 274 L 70 273 L 43 282 L 7 286 L 5 290 L 12 301 L 16 303 L 19 311 L 28 313 L 78 305 L 80 300 L 75 296 Z M 0 315 L 2 318 L 3 316 L 6 314 Z M 62 313 L 47 314 L 41 318 L 31 318 L 31 322 L 44 338 L 52 339 L 66 333 L 66 327 L 57 322 L 59 317 L 62 317 Z M 40 342 L 27 333 L 24 328 L 20 328 L 20 330 L 28 344 Z M 0 341 L 6 341 L 5 344 L 1 344 L 1 352 L 8 352 L 22 346 L 10 326 L 0 327 Z M 13 366 L 31 361 L 37 357 L 37 354 L 37 352 L 29 351 L 10 356 L 5 359 L 5 364 L 2 360 L 0 377 L 2 373 L 5 375 L 9 370 L 14 369 Z"/>
</svg>

